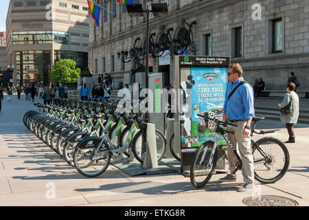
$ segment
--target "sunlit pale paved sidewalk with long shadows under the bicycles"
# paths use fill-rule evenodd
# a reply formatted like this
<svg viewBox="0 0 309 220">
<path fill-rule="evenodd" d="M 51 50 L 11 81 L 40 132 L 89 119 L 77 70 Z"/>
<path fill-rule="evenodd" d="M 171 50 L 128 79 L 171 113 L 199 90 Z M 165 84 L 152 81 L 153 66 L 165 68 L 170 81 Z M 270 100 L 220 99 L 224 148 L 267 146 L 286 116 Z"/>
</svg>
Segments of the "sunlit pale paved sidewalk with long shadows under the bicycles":
<svg viewBox="0 0 309 220">
<path fill-rule="evenodd" d="M 246 206 L 242 200 L 251 197 L 251 192 L 236 192 L 242 186 L 240 171 L 238 182 L 219 184 L 225 174 L 218 174 L 201 189 L 178 173 L 131 177 L 113 165 L 99 177 L 83 177 L 24 126 L 23 114 L 35 109 L 32 103 L 25 96 L 11 96 L 11 102 L 5 96 L 2 102 L 0 206 Z M 286 140 L 281 122 L 264 120 L 258 127 L 282 128 L 273 136 Z M 262 195 L 309 206 L 308 130 L 308 125 L 297 124 L 297 143 L 287 144 L 289 170 L 277 183 L 262 185 Z"/>
</svg>

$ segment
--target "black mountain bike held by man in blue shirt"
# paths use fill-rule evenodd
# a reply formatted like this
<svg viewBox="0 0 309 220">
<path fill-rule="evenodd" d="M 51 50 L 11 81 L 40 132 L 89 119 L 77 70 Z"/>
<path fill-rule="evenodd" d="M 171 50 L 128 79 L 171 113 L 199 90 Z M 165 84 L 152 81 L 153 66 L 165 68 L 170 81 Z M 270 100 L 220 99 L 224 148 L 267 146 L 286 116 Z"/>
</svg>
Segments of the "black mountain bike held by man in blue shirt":
<svg viewBox="0 0 309 220">
<path fill-rule="evenodd" d="M 233 173 L 236 173 L 237 170 L 241 170 L 242 160 L 227 135 L 227 133 L 233 133 L 233 131 L 225 129 L 226 126 L 238 125 L 230 122 L 222 122 L 214 118 L 207 118 L 207 116 L 204 115 L 198 116 L 204 118 L 205 121 L 211 120 L 216 123 L 214 133 L 209 133 L 209 137 L 214 137 L 215 140 L 204 142 L 198 148 L 192 160 L 190 180 L 194 187 L 201 188 L 207 184 L 211 175 L 214 173 L 218 160 L 217 143 L 220 135 L 226 140 L 227 146 L 231 148 L 236 156 L 237 166 L 235 170 L 233 170 Z M 264 119 L 264 117 L 253 117 L 251 136 L 253 133 L 264 134 L 278 131 L 278 129 L 271 131 L 255 131 L 255 124 L 262 119 Z M 213 134 L 215 134 L 215 136 L 213 136 Z M 254 163 L 254 177 L 256 180 L 264 184 L 271 184 L 284 177 L 290 163 L 290 155 L 282 141 L 275 137 L 263 137 L 256 142 L 251 140 L 251 147 Z"/>
</svg>

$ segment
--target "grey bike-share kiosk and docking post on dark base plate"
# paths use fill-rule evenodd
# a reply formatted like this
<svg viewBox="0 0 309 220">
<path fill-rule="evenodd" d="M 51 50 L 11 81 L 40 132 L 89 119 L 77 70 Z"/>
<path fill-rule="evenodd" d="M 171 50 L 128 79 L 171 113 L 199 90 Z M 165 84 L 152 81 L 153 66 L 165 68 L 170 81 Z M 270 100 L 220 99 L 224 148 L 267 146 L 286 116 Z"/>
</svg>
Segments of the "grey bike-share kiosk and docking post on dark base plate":
<svg viewBox="0 0 309 220">
<path fill-rule="evenodd" d="M 149 89 L 152 90 L 154 94 L 154 100 L 152 105 L 154 108 L 153 113 L 149 113 L 148 123 L 144 123 L 147 127 L 146 129 L 146 146 L 144 146 L 144 162 L 141 164 L 135 159 L 132 151 L 129 151 L 130 157 L 126 157 L 119 162 L 111 162 L 117 168 L 123 170 L 125 173 L 131 176 L 135 175 L 155 175 L 162 173 L 175 173 L 180 171 L 180 164 L 170 153 L 170 139 L 166 141 L 166 151 L 165 156 L 160 162 L 157 161 L 157 137 L 155 130 L 161 131 L 165 137 L 171 137 L 170 133 L 174 132 L 173 126 L 167 128 L 167 133 L 165 133 L 165 118 L 163 109 L 163 98 L 161 96 L 156 96 L 159 89 L 163 89 L 163 74 L 155 73 L 148 75 L 148 85 Z M 168 123 L 170 124 L 170 123 Z M 160 143 L 159 143 L 160 144 Z M 178 166 L 177 166 L 178 165 Z"/>
</svg>

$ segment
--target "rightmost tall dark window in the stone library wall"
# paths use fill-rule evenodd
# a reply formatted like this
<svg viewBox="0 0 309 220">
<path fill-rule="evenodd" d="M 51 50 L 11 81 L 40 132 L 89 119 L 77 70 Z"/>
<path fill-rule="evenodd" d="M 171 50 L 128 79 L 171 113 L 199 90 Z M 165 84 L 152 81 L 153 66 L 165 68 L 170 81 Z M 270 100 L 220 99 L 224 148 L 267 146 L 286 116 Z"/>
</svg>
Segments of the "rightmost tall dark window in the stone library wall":
<svg viewBox="0 0 309 220">
<path fill-rule="evenodd" d="M 282 19 L 273 20 L 272 52 L 282 53 Z"/>
</svg>

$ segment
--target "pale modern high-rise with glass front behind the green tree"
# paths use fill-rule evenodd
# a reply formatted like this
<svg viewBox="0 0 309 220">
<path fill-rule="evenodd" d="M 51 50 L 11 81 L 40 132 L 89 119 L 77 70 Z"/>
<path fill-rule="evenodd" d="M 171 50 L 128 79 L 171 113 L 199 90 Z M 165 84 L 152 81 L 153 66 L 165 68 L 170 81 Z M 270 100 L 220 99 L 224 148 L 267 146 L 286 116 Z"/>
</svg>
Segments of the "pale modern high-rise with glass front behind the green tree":
<svg viewBox="0 0 309 220">
<path fill-rule="evenodd" d="M 6 18 L 7 63 L 14 85 L 48 83 L 60 58 L 88 67 L 89 12 L 84 0 L 10 0 Z"/>
</svg>

